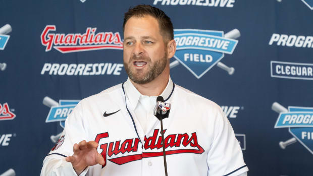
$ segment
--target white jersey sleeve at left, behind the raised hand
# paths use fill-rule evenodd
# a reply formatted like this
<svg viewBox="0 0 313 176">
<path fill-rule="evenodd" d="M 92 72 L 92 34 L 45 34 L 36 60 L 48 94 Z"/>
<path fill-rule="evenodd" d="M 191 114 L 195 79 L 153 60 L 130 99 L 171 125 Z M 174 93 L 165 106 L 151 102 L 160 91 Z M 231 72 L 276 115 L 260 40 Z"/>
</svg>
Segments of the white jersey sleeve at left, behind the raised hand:
<svg viewBox="0 0 313 176">
<path fill-rule="evenodd" d="M 86 126 L 81 104 L 78 103 L 65 121 L 65 128 L 57 144 L 43 160 L 40 175 L 77 175 L 72 164 L 65 157 L 73 155 L 73 146 L 82 140 L 87 141 Z M 85 175 L 88 167 L 80 174 Z"/>
</svg>

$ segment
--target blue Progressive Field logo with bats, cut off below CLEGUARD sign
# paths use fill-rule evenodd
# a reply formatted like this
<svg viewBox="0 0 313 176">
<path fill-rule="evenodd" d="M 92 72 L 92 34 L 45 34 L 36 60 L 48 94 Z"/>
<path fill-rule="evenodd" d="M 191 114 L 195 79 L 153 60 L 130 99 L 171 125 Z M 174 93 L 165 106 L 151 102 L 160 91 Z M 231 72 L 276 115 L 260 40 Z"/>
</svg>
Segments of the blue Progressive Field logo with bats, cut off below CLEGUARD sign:
<svg viewBox="0 0 313 176">
<path fill-rule="evenodd" d="M 279 143 L 282 149 L 295 142 L 301 143 L 313 154 L 313 107 L 288 106 L 288 109 L 274 102 L 272 109 L 279 113 L 274 128 L 288 128 L 293 136 Z"/>
</svg>

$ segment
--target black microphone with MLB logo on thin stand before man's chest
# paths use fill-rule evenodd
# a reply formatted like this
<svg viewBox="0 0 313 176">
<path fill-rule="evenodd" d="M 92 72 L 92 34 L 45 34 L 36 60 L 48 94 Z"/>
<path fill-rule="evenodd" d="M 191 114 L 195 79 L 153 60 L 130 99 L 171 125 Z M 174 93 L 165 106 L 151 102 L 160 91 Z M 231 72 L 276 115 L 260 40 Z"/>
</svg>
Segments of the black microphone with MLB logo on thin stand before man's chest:
<svg viewBox="0 0 313 176">
<path fill-rule="evenodd" d="M 163 131 L 163 122 L 164 118 L 168 118 L 170 114 L 171 104 L 163 102 L 164 99 L 162 96 L 156 98 L 156 105 L 154 107 L 153 113 L 161 121 L 161 135 L 162 135 L 162 148 L 163 148 L 163 158 L 164 158 L 164 170 L 165 176 L 168 176 L 168 169 L 166 164 L 166 154 L 165 154 L 165 142 L 164 142 L 164 131 Z"/>
</svg>

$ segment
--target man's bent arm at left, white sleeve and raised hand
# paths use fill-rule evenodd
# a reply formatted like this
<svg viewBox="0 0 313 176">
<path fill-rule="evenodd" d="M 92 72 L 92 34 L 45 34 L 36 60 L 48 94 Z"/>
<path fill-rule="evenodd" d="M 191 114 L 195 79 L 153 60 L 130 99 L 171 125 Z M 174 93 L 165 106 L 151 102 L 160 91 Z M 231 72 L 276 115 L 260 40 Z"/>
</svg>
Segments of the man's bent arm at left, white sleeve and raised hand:
<svg viewBox="0 0 313 176">
<path fill-rule="evenodd" d="M 78 103 L 66 119 L 58 143 L 45 157 L 41 175 L 85 175 L 87 166 L 105 163 L 97 152 L 98 144 L 86 142 L 88 123 L 82 117 L 82 107 Z"/>
</svg>

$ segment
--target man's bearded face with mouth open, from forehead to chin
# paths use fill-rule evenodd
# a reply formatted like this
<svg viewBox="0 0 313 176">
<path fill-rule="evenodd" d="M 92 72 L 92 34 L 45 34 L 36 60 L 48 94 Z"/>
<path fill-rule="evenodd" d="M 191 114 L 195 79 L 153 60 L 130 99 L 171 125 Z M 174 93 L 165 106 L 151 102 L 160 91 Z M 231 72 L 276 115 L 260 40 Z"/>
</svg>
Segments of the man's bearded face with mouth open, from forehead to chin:
<svg viewBox="0 0 313 176">
<path fill-rule="evenodd" d="M 123 46 L 126 73 L 137 84 L 149 83 L 167 65 L 167 48 L 158 21 L 149 15 L 126 22 Z"/>
</svg>

